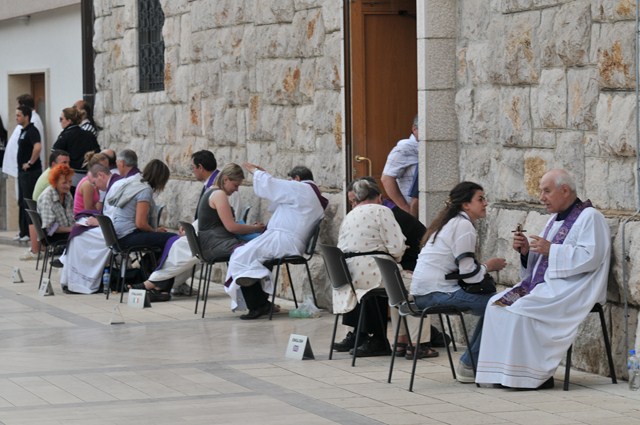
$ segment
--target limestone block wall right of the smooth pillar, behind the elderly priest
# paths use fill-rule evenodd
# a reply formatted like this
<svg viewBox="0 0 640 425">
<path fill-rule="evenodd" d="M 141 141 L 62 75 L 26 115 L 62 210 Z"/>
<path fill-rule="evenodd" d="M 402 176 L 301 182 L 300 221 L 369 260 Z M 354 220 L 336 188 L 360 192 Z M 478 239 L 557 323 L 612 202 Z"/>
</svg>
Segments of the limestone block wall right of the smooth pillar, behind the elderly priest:
<svg viewBox="0 0 640 425">
<path fill-rule="evenodd" d="M 630 0 L 462 0 L 458 7 L 457 92 L 461 180 L 481 183 L 494 202 L 481 251 L 510 266 L 518 281 L 511 230 L 537 233 L 548 216 L 537 204 L 545 170 L 566 168 L 578 194 L 609 220 L 613 259 L 606 308 L 618 373 L 638 344 L 635 264 L 635 2 Z M 625 318 L 623 265 L 629 267 Z M 575 366 L 606 374 L 600 325 L 590 318 L 576 341 Z"/>
</svg>

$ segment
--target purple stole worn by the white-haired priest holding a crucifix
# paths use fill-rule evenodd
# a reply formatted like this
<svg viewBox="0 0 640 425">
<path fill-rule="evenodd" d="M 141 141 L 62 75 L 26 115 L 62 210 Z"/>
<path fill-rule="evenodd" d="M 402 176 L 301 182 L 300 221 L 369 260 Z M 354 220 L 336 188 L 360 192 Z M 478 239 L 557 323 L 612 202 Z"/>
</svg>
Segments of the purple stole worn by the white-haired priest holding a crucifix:
<svg viewBox="0 0 640 425">
<path fill-rule="evenodd" d="M 564 219 L 564 222 L 560 225 L 558 232 L 555 234 L 553 239 L 551 240 L 552 244 L 562 244 L 564 243 L 565 238 L 569 234 L 571 227 L 576 222 L 582 211 L 586 208 L 592 207 L 591 201 L 586 200 L 585 202 L 579 202 L 575 204 L 567 218 Z M 557 216 L 557 214 L 556 214 Z M 543 238 L 546 239 L 549 231 L 551 231 L 551 227 L 553 227 L 553 223 L 555 221 L 555 216 L 553 220 L 549 221 L 547 228 L 544 230 Z M 538 268 L 535 269 L 535 273 L 528 276 L 519 286 L 511 289 L 509 292 L 505 293 L 499 300 L 496 301 L 496 304 L 502 306 L 512 305 L 514 302 L 518 301 L 520 298 L 529 294 L 533 288 L 535 288 L 540 283 L 544 283 L 544 274 L 549 267 L 549 257 L 546 255 L 542 256 L 542 259 L 538 261 Z"/>
</svg>

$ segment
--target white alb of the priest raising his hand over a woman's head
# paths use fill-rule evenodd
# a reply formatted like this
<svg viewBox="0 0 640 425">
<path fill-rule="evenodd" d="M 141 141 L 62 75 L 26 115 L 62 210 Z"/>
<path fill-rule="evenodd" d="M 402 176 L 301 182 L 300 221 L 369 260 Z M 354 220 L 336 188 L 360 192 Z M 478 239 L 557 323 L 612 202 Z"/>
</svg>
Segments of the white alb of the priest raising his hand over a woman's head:
<svg viewBox="0 0 640 425">
<path fill-rule="evenodd" d="M 262 263 L 285 255 L 302 254 L 314 226 L 324 216 L 322 204 L 308 183 L 277 179 L 256 170 L 253 191 L 271 201 L 269 211 L 273 215 L 264 233 L 231 254 L 225 281 L 233 281 L 225 286 L 225 290 L 231 297 L 232 310 L 246 309 L 235 280 L 239 277 L 262 279 L 263 291 L 272 293 L 271 271 Z"/>
</svg>

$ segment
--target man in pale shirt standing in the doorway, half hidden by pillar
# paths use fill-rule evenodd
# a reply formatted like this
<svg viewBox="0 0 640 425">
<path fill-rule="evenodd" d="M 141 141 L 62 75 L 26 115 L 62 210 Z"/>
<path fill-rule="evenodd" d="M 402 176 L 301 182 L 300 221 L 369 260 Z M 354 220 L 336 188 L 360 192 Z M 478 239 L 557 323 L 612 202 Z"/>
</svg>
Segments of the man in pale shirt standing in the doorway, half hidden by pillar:
<svg viewBox="0 0 640 425">
<path fill-rule="evenodd" d="M 382 170 L 382 186 L 387 196 L 400 208 L 411 213 L 410 191 L 418 165 L 418 116 L 413 119 L 411 135 L 389 152 Z"/>
</svg>

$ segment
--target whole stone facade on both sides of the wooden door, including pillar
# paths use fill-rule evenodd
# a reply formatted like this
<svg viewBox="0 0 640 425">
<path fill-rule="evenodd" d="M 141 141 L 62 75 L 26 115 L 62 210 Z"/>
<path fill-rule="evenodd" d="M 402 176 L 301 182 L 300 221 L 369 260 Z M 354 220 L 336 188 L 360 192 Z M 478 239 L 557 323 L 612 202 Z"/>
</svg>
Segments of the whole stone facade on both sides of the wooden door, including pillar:
<svg viewBox="0 0 640 425">
<path fill-rule="evenodd" d="M 192 216 L 198 184 L 189 157 L 251 161 L 284 176 L 310 165 L 331 206 L 321 241 L 335 242 L 344 214 L 343 4 L 339 0 L 162 0 L 165 91 L 138 93 L 134 0 L 95 0 L 96 115 L 101 145 L 162 158 L 172 179 L 160 200 L 166 222 Z M 606 308 L 618 372 L 624 365 L 623 262 L 628 343 L 636 344 L 640 273 L 635 264 L 635 4 L 630 0 L 417 1 L 421 217 L 439 210 L 459 180 L 475 180 L 493 202 L 482 224 L 483 256 L 504 256 L 503 285 L 517 281 L 511 230 L 541 229 L 537 185 L 564 167 L 582 198 L 603 210 L 614 258 Z M 257 202 L 250 181 L 240 205 Z M 252 219 L 268 219 L 254 204 Z M 636 236 L 638 235 L 638 236 Z M 322 263 L 314 275 L 324 282 Z M 302 282 L 302 270 L 292 279 Z M 284 292 L 290 279 L 285 278 Z M 298 294 L 300 290 L 297 291 Z M 330 289 L 321 290 L 330 304 Z M 300 295 L 299 295 L 300 296 Z M 304 296 L 303 296 L 304 297 Z M 606 373 L 593 319 L 574 363 Z M 596 347 L 596 348 L 594 348 Z M 592 349 L 594 348 L 594 349 Z"/>
</svg>

